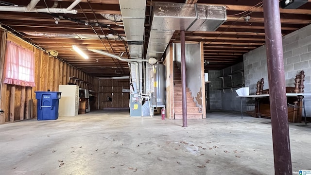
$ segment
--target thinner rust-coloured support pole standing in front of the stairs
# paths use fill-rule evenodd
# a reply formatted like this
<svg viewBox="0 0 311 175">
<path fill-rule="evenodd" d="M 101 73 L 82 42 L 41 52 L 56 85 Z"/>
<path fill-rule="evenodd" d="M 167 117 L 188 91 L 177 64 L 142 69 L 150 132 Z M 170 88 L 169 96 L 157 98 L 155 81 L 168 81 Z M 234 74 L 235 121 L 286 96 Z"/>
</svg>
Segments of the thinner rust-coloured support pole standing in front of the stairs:
<svg viewBox="0 0 311 175">
<path fill-rule="evenodd" d="M 180 31 L 180 46 L 181 46 L 181 92 L 182 92 L 182 104 L 183 104 L 183 127 L 187 127 L 185 31 Z"/>
</svg>

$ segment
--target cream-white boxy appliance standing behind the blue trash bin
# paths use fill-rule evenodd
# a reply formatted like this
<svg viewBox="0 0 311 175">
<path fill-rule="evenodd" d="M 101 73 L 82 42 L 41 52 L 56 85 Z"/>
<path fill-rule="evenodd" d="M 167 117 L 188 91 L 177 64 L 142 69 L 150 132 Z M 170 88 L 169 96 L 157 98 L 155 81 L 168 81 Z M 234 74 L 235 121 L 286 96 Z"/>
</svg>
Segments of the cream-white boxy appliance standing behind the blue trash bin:
<svg viewBox="0 0 311 175">
<path fill-rule="evenodd" d="M 79 112 L 79 86 L 59 85 L 58 91 L 62 92 L 59 99 L 59 116 L 77 116 Z"/>
</svg>

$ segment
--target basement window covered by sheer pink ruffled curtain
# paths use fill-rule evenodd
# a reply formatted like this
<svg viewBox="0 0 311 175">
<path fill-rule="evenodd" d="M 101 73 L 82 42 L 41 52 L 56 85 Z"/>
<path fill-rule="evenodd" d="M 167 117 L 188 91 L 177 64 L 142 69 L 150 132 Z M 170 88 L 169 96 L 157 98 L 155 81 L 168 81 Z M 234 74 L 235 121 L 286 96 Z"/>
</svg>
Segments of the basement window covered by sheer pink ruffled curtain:
<svg viewBox="0 0 311 175">
<path fill-rule="evenodd" d="M 5 77 L 3 83 L 35 87 L 35 53 L 12 41 L 7 41 Z"/>
</svg>

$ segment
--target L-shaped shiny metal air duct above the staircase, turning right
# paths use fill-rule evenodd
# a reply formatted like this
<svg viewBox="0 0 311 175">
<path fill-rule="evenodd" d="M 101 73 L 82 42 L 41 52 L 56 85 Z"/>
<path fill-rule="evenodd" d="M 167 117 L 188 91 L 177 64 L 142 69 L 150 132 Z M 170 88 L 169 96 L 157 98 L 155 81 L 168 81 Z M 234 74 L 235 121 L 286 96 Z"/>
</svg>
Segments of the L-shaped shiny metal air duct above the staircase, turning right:
<svg viewBox="0 0 311 175">
<path fill-rule="evenodd" d="M 161 59 L 176 30 L 215 31 L 225 20 L 225 6 L 155 2 L 146 58 Z"/>
</svg>

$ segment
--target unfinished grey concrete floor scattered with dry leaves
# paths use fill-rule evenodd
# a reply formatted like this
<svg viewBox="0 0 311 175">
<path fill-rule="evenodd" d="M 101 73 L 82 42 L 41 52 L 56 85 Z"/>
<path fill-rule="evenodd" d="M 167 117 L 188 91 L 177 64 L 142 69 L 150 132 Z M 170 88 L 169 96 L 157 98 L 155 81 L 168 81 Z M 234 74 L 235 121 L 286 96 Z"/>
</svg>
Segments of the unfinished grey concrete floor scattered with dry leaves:
<svg viewBox="0 0 311 175">
<path fill-rule="evenodd" d="M 269 119 L 95 111 L 0 125 L 0 175 L 274 175 Z M 311 170 L 311 123 L 290 123 L 293 174 Z"/>
</svg>

